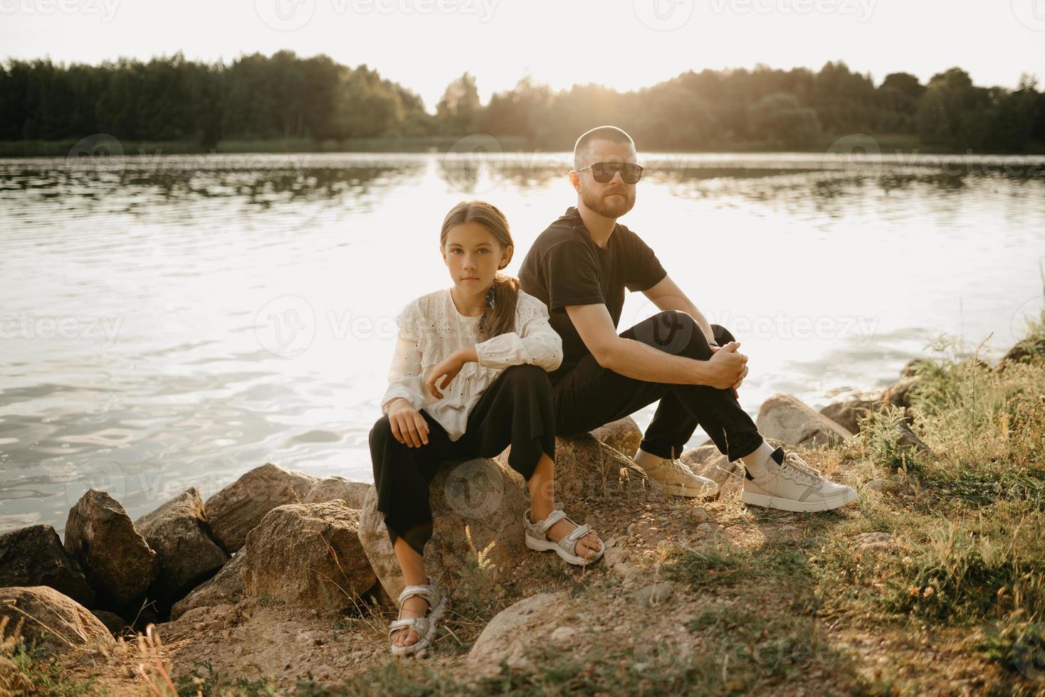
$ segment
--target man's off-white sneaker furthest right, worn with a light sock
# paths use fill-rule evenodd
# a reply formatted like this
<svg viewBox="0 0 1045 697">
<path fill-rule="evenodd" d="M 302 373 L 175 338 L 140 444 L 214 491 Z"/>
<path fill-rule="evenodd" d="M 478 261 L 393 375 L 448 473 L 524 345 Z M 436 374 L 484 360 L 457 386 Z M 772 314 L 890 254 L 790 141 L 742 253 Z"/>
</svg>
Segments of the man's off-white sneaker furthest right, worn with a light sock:
<svg viewBox="0 0 1045 697">
<path fill-rule="evenodd" d="M 825 479 L 796 453 L 785 455 L 783 448 L 776 448 L 766 460 L 766 474 L 745 475 L 740 500 L 752 506 L 811 512 L 838 508 L 857 499 L 856 489 Z"/>
</svg>

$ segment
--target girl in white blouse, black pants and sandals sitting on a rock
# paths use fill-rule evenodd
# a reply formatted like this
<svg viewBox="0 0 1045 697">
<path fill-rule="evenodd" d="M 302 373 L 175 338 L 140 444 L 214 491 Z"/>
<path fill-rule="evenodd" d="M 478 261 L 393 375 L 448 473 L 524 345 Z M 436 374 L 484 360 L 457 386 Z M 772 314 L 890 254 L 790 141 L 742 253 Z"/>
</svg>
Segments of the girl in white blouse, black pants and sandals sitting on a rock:
<svg viewBox="0 0 1045 697">
<path fill-rule="evenodd" d="M 428 484 L 440 460 L 493 457 L 510 444 L 508 463 L 530 490 L 527 546 L 577 564 L 604 550 L 588 526 L 553 510 L 548 371 L 562 362 L 562 340 L 544 304 L 498 273 L 514 251 L 508 221 L 490 203 L 462 201 L 446 214 L 439 247 L 454 285 L 411 302 L 399 315 L 381 399 L 386 415 L 370 432 L 377 509 L 407 583 L 389 629 L 396 655 L 428 647 L 445 610 L 422 557 L 432 536 Z"/>
</svg>

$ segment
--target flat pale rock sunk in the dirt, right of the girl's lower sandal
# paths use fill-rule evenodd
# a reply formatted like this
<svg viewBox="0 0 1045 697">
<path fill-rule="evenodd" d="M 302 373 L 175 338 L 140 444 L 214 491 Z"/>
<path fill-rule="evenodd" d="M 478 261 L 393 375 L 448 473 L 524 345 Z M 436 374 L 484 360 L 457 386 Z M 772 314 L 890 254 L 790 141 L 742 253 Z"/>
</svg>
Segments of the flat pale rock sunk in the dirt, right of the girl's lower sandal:
<svg viewBox="0 0 1045 697">
<path fill-rule="evenodd" d="M 547 646 L 568 612 L 570 593 L 541 593 L 506 607 L 493 617 L 468 652 L 468 662 L 495 668 L 502 660 L 514 667 L 531 647 Z M 586 610 L 590 612 L 590 608 Z"/>
</svg>

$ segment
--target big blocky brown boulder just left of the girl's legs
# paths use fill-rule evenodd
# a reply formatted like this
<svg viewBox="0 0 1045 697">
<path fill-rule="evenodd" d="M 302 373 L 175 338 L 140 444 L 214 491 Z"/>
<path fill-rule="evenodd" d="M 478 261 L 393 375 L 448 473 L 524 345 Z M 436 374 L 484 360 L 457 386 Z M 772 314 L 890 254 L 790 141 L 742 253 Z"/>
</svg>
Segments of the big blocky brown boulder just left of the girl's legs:
<svg viewBox="0 0 1045 697">
<path fill-rule="evenodd" d="M 273 508 L 247 535 L 243 592 L 318 610 L 354 607 L 376 578 L 341 499 Z"/>
</svg>

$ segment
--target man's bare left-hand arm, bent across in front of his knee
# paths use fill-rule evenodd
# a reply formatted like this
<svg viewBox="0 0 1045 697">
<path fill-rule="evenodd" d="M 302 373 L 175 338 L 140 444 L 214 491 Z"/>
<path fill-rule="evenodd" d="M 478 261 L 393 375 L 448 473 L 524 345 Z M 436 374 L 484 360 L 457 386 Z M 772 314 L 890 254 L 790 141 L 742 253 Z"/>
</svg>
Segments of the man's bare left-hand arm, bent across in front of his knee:
<svg viewBox="0 0 1045 697">
<path fill-rule="evenodd" d="M 618 336 L 602 303 L 567 305 L 566 314 L 599 365 L 628 378 L 725 389 L 744 368 L 743 358 L 735 352 L 720 351 L 712 357 L 714 360 L 697 361 Z"/>
</svg>

